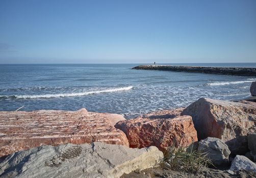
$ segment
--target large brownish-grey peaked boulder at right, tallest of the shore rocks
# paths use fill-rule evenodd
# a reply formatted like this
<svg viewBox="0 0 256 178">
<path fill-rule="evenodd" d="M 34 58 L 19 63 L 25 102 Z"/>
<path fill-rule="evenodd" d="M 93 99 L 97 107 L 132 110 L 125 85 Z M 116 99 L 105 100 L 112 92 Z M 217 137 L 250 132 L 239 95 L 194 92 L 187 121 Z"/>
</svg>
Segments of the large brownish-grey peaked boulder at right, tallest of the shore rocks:
<svg viewBox="0 0 256 178">
<path fill-rule="evenodd" d="M 248 151 L 247 134 L 256 132 L 256 103 L 231 102 L 200 98 L 182 114 L 191 115 L 198 140 L 222 139 L 232 154 Z"/>
</svg>

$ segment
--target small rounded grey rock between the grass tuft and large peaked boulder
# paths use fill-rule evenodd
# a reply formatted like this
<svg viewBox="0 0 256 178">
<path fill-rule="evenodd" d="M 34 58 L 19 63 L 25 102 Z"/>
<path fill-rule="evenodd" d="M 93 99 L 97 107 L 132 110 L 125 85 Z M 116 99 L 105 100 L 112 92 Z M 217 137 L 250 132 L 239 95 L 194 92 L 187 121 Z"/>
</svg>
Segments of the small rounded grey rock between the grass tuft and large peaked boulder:
<svg viewBox="0 0 256 178">
<path fill-rule="evenodd" d="M 206 153 L 215 166 L 227 165 L 231 153 L 228 146 L 219 138 L 207 137 L 198 142 L 198 151 Z"/>
</svg>

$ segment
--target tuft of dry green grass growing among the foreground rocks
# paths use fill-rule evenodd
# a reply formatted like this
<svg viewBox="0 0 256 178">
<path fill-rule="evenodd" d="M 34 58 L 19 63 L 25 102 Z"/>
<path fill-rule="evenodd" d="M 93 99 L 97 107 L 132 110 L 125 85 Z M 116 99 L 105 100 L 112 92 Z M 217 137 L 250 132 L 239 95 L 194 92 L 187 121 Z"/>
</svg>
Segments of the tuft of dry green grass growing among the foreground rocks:
<svg viewBox="0 0 256 178">
<path fill-rule="evenodd" d="M 164 154 L 164 158 L 160 163 L 160 166 L 164 169 L 172 170 L 185 170 L 190 172 L 197 172 L 210 165 L 212 162 L 207 157 L 207 154 L 199 153 L 195 149 L 186 149 L 182 147 L 175 148 L 170 146 L 168 152 Z"/>
</svg>

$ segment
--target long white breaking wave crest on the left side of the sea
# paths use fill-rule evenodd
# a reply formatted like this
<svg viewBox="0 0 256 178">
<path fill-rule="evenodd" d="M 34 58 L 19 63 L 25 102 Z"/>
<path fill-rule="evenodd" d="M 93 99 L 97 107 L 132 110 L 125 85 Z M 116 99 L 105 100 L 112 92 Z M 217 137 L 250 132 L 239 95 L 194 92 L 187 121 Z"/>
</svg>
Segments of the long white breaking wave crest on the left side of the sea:
<svg viewBox="0 0 256 178">
<path fill-rule="evenodd" d="M 98 90 L 98 91 L 89 91 L 89 92 L 81 92 L 81 93 L 62 93 L 62 94 L 45 94 L 45 95 L 12 95 L 12 96 L 0 96 L 0 98 L 58 98 L 58 97 L 77 97 L 91 94 L 99 94 L 99 93 L 109 93 L 109 92 L 118 92 L 131 90 L 133 86 L 112 88 L 108 90 Z"/>
</svg>

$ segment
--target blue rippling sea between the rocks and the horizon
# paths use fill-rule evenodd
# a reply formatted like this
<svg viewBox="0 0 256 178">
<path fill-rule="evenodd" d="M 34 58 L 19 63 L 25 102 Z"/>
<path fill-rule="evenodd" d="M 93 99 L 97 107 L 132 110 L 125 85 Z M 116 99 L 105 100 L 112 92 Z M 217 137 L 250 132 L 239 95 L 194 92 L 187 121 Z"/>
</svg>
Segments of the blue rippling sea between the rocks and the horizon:
<svg viewBox="0 0 256 178">
<path fill-rule="evenodd" d="M 0 110 L 86 108 L 132 118 L 186 107 L 201 97 L 234 100 L 250 96 L 256 77 L 131 70 L 139 64 L 0 65 Z M 168 64 L 167 64 L 168 65 Z M 256 63 L 169 64 L 255 67 Z"/>
</svg>

